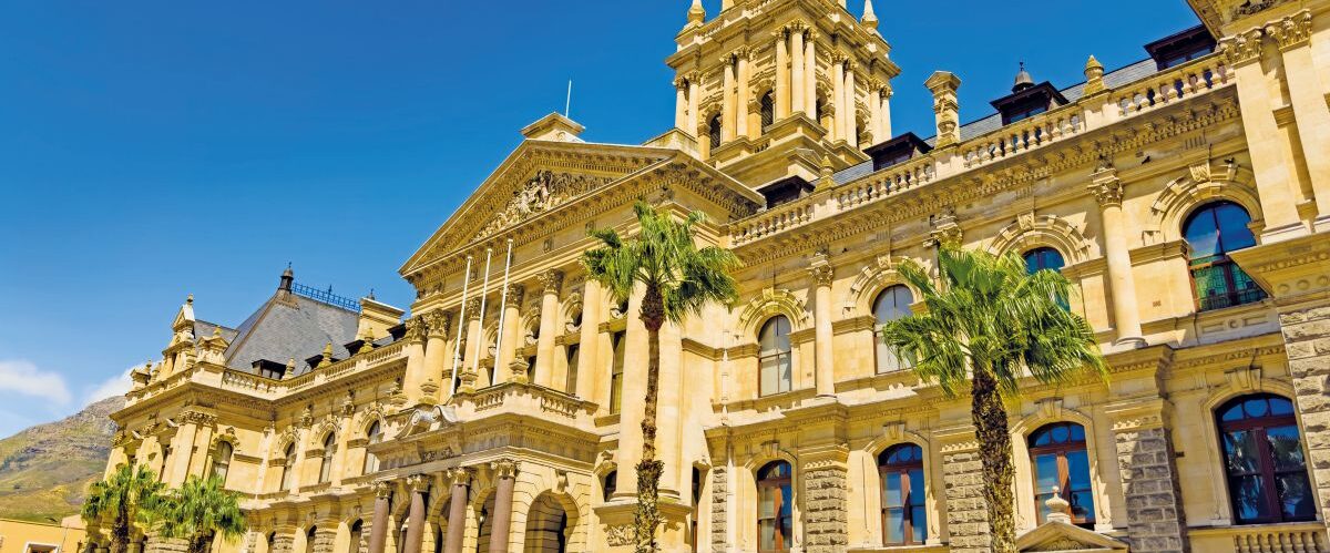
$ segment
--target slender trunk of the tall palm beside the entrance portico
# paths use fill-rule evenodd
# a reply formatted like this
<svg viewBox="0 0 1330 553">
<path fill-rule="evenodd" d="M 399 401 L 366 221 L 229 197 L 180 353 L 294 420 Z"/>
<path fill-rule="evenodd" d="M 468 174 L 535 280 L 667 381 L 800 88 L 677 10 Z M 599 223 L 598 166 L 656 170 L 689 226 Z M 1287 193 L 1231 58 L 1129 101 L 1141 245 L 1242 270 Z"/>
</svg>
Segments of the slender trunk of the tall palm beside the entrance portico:
<svg viewBox="0 0 1330 553">
<path fill-rule="evenodd" d="M 660 496 L 661 473 L 665 464 L 656 460 L 656 403 L 661 372 L 661 326 L 665 323 L 665 308 L 660 288 L 646 287 L 641 307 L 642 324 L 646 327 L 646 397 L 642 413 L 642 460 L 637 464 L 637 512 L 633 514 L 633 529 L 637 553 L 657 550 L 656 529 L 661 514 L 656 501 Z"/>
</svg>

